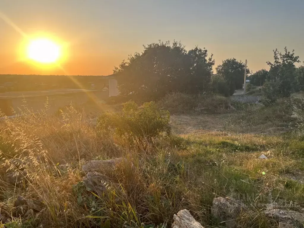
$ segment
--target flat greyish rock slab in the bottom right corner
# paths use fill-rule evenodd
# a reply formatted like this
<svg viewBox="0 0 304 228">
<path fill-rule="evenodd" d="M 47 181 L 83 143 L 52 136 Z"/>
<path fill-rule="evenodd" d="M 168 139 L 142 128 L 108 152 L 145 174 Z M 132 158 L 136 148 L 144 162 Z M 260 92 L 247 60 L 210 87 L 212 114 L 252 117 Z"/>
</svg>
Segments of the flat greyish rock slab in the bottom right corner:
<svg viewBox="0 0 304 228">
<path fill-rule="evenodd" d="M 304 224 L 304 213 L 301 212 L 266 209 L 264 213 L 269 219 L 275 219 L 281 223 L 281 227 L 302 227 L 302 224 Z"/>
</svg>

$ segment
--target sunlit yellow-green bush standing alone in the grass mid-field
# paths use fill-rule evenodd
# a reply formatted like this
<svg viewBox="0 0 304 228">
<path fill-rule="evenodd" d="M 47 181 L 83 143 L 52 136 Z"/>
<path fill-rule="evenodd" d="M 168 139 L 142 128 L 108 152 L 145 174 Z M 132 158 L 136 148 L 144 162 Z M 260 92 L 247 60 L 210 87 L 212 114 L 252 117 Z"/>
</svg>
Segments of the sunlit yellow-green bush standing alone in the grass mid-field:
<svg viewBox="0 0 304 228">
<path fill-rule="evenodd" d="M 129 140 L 153 142 L 162 133 L 170 134 L 170 114 L 157 108 L 155 102 L 139 107 L 134 101 L 123 104 L 120 112 L 102 113 L 97 119 L 97 129 L 102 134 L 115 131 Z"/>
</svg>

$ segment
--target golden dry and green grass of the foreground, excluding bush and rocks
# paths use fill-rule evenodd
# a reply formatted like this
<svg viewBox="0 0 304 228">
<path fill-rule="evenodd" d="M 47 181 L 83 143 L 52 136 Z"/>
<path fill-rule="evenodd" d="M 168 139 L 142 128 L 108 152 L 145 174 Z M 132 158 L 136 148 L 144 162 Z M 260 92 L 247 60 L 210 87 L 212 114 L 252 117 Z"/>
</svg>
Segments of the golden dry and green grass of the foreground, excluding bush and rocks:
<svg viewBox="0 0 304 228">
<path fill-rule="evenodd" d="M 240 218 L 243 227 L 272 227 L 261 213 L 265 203 L 276 201 L 292 209 L 304 205 L 303 185 L 285 177 L 304 169 L 304 143 L 298 138 L 214 132 L 217 120 L 212 116 L 202 116 L 198 123 L 208 131 L 195 130 L 199 119 L 176 116 L 172 125 L 179 136 L 143 148 L 116 135 L 98 135 L 73 107 L 57 117 L 46 111 L 28 114 L 2 122 L 0 199 L 6 207 L 0 206 L 1 213 L 10 212 L 17 195 L 41 199 L 44 209 L 26 217 L 10 216 L 8 223 L 16 227 L 42 222 L 45 227 L 170 227 L 181 209 L 190 210 L 204 226 L 220 227 L 210 215 L 216 196 L 247 205 L 252 213 Z M 269 159 L 258 159 L 260 154 Z M 85 160 L 121 156 L 128 162 L 107 171 L 110 182 L 104 195 L 83 188 Z M 23 167 L 11 162 L 14 157 Z M 8 169 L 24 174 L 24 168 L 27 175 L 21 185 L 6 182 Z"/>
</svg>

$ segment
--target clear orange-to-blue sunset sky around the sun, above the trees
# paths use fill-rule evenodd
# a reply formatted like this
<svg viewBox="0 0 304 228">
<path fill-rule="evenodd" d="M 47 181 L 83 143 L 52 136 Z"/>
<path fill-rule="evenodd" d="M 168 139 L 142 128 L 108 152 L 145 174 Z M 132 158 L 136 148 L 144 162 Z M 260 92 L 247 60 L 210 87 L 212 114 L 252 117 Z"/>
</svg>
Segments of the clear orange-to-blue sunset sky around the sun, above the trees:
<svg viewBox="0 0 304 228">
<path fill-rule="evenodd" d="M 304 60 L 303 10 L 304 0 L 1 0 L 0 74 L 108 75 L 143 44 L 174 39 L 205 47 L 216 65 L 268 69 L 275 48 Z M 37 33 L 68 44 L 61 68 L 20 61 L 22 34 Z"/>
</svg>

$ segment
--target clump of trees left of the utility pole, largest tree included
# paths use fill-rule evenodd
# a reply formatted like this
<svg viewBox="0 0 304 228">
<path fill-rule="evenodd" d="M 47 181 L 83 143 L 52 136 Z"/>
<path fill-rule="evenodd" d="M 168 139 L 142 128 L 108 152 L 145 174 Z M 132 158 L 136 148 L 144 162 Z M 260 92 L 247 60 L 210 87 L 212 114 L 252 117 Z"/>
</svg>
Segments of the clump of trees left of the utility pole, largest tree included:
<svg viewBox="0 0 304 228">
<path fill-rule="evenodd" d="M 121 97 L 141 101 L 161 99 L 170 92 L 188 94 L 216 92 L 232 95 L 243 87 L 245 64 L 234 58 L 216 67 L 205 48 L 186 50 L 181 42 L 143 46 L 142 53 L 129 55 L 114 68 Z M 249 74 L 249 69 L 247 69 Z"/>
</svg>

